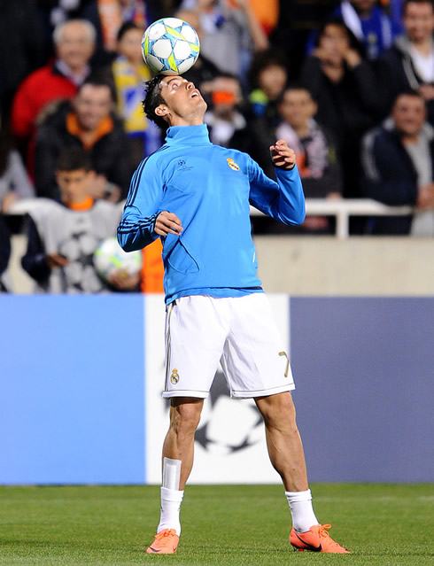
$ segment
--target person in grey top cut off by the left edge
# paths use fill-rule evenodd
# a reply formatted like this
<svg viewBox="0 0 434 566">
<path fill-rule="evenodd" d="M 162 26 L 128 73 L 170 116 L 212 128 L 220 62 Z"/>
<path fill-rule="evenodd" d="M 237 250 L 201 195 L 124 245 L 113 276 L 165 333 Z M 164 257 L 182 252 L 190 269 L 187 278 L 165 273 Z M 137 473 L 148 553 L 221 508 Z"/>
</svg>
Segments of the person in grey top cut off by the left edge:
<svg viewBox="0 0 434 566">
<path fill-rule="evenodd" d="M 34 186 L 19 152 L 12 146 L 8 125 L 0 113 L 0 212 L 7 213 L 18 198 L 34 196 Z"/>
</svg>

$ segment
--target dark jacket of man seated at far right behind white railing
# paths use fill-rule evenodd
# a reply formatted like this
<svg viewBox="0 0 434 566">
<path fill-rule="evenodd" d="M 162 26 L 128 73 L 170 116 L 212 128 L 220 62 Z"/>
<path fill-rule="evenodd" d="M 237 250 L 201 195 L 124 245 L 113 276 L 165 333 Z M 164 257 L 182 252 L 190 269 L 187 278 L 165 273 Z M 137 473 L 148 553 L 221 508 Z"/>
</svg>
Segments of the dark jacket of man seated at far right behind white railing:
<svg viewBox="0 0 434 566">
<path fill-rule="evenodd" d="M 434 140 L 430 141 L 430 159 L 434 166 Z M 362 165 L 366 197 L 391 206 L 416 204 L 417 172 L 396 130 L 383 126 L 365 136 Z M 369 225 L 373 234 L 405 235 L 411 223 L 411 215 L 376 216 Z"/>
</svg>

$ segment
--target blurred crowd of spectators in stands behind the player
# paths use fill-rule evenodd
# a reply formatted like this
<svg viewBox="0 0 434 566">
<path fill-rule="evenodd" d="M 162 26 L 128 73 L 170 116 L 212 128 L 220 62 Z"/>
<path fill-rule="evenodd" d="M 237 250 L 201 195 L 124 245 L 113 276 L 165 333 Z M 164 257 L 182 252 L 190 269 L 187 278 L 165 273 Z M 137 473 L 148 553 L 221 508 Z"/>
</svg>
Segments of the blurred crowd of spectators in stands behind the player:
<svg viewBox="0 0 434 566">
<path fill-rule="evenodd" d="M 141 38 L 167 16 L 198 32 L 198 61 L 183 76 L 207 101 L 213 143 L 248 152 L 273 177 L 269 146 L 283 138 L 306 198 L 414 211 L 355 218 L 352 234 L 434 236 L 432 0 L 318 0 L 308 10 L 297 0 L 0 0 L 0 15 L 3 290 L 10 233 L 25 231 L 22 266 L 42 291 L 159 291 L 158 244 L 128 281 L 98 283 L 89 257 L 163 141 L 143 114 L 151 71 Z M 297 229 L 253 221 L 257 233 L 334 229 L 327 216 Z"/>
</svg>

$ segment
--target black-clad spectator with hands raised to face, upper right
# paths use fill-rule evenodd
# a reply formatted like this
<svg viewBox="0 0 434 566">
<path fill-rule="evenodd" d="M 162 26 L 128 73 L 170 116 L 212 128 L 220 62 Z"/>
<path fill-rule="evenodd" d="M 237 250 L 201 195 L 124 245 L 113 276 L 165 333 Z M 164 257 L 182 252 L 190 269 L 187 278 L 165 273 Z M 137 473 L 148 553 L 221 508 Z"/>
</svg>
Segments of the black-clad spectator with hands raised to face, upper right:
<svg viewBox="0 0 434 566">
<path fill-rule="evenodd" d="M 344 174 L 343 195 L 360 197 L 360 141 L 376 124 L 378 97 L 371 67 L 341 19 L 327 22 L 306 58 L 301 81 L 318 105 L 316 120 L 335 136 Z"/>
</svg>

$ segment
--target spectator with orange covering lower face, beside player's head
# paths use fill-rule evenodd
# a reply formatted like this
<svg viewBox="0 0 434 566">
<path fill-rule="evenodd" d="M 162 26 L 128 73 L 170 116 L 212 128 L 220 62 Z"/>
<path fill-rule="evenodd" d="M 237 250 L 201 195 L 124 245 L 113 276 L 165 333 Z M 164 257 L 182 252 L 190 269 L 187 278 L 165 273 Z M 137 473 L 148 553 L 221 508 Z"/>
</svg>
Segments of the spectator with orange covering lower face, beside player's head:
<svg viewBox="0 0 434 566">
<path fill-rule="evenodd" d="M 211 102 L 204 119 L 210 140 L 231 147 L 232 137 L 246 126 L 244 115 L 237 108 L 243 102 L 238 79 L 224 74 L 216 77 L 211 84 Z"/>
</svg>

